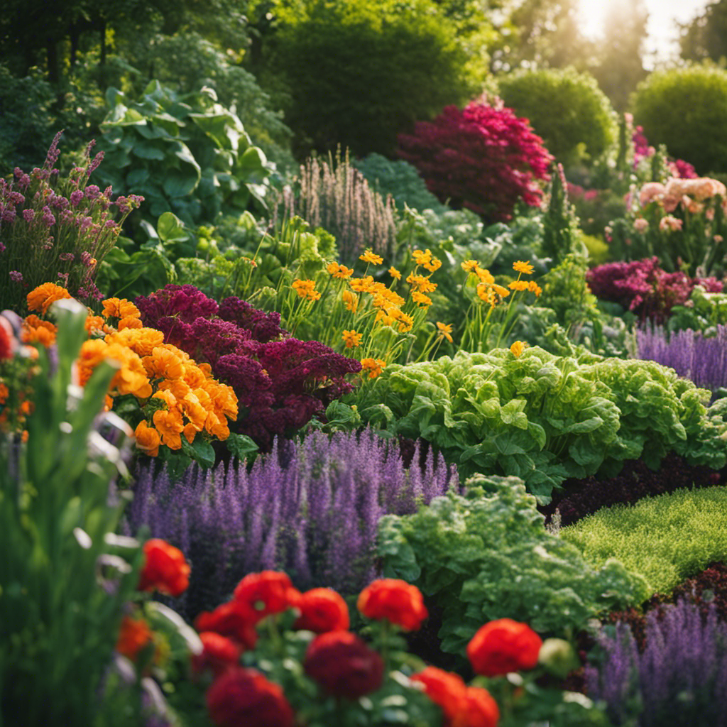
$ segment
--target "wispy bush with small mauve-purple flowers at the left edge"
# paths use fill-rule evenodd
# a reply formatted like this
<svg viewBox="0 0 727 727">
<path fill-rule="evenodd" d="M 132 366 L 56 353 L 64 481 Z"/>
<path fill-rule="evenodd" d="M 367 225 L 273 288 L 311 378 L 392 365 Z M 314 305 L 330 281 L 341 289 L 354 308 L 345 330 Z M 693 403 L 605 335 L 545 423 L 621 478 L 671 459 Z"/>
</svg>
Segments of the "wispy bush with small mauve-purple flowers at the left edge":
<svg viewBox="0 0 727 727">
<path fill-rule="evenodd" d="M 103 160 L 103 152 L 91 158 L 94 142 L 81 166 L 61 177 L 55 164 L 62 133 L 42 168 L 25 173 L 16 167 L 11 180 L 0 179 L 0 310 L 23 310 L 26 294 L 48 282 L 81 300 L 100 300 L 95 280 L 101 262 L 126 216 L 143 201 L 133 194 L 112 201 L 111 187 L 102 192 L 89 185 Z"/>
</svg>

